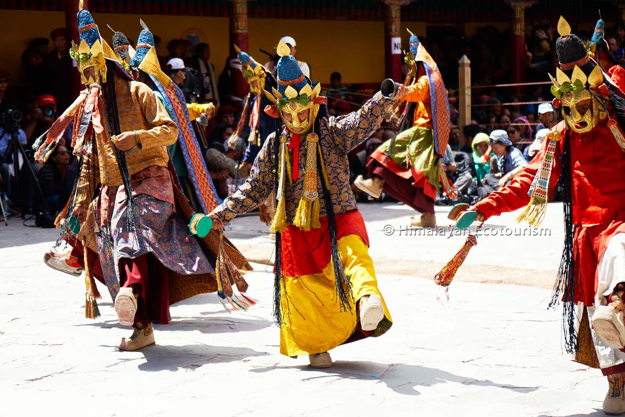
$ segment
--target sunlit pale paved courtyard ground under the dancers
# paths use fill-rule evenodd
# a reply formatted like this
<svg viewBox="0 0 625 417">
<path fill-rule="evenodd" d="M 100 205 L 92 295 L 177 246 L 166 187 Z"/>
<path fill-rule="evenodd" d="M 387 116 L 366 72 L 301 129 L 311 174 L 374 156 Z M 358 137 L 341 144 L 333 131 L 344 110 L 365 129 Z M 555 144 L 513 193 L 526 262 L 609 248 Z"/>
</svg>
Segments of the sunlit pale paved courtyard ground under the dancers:
<svg viewBox="0 0 625 417">
<path fill-rule="evenodd" d="M 55 230 L 0 224 L 0 415 L 604 415 L 605 379 L 562 354 L 561 312 L 546 309 L 561 205 L 549 206 L 546 236 L 515 236 L 524 226 L 514 214 L 491 219 L 449 303 L 437 301 L 432 275 L 466 236 L 406 236 L 412 212 L 396 204 L 361 211 L 394 325 L 334 349 L 334 367 L 322 370 L 278 353 L 272 241 L 256 216 L 227 234 L 256 261 L 246 279 L 258 304 L 228 313 L 215 294 L 178 303 L 172 323 L 155 326 L 157 346 L 141 352 L 118 351 L 131 330 L 104 288 L 103 315 L 84 319 L 83 278 L 42 263 Z M 446 211 L 437 211 L 444 226 Z"/>
</svg>

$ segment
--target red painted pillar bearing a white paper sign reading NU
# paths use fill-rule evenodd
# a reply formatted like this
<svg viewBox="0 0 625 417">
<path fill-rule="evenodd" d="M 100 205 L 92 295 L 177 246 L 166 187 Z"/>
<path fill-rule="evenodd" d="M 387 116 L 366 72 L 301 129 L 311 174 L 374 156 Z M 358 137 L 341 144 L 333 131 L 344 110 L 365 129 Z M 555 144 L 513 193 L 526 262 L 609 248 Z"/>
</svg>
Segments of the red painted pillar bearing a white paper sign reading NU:
<svg viewBox="0 0 625 417">
<path fill-rule="evenodd" d="M 384 0 L 386 5 L 386 28 L 384 34 L 384 62 L 386 78 L 401 83 L 401 6 L 406 0 Z"/>
</svg>

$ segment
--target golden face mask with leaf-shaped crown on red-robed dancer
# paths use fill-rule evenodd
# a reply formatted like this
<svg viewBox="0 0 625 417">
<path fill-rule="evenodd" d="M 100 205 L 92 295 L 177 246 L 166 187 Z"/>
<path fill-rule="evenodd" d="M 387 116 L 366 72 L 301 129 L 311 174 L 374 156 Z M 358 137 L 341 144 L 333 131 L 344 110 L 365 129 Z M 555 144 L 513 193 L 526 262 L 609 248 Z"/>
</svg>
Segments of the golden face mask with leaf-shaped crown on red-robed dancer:
<svg viewBox="0 0 625 417">
<path fill-rule="evenodd" d="M 588 77 L 577 66 L 573 68 L 571 79 L 559 68 L 556 69 L 556 76 L 557 81 L 550 75 L 554 84 L 551 92 L 562 103 L 562 117 L 569 129 L 587 133 L 607 118 L 604 104 L 586 88 L 587 85 L 597 88 L 603 83 L 599 66 Z"/>
</svg>

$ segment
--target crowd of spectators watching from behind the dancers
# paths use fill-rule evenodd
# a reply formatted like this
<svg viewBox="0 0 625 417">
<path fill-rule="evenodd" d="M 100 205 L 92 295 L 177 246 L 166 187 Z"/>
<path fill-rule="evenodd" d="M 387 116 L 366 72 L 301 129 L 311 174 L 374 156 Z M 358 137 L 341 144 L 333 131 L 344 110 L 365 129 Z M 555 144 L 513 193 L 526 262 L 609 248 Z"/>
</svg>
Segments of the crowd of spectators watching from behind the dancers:
<svg viewBox="0 0 625 417">
<path fill-rule="evenodd" d="M 541 83 L 548 80 L 547 73 L 554 73 L 557 66 L 555 21 L 543 20 L 526 25 L 526 81 Z M 579 33 L 587 39 L 591 33 Z M 477 201 L 492 189 L 497 189 L 517 173 L 518 167 L 527 164 L 536 153 L 536 146 L 544 140 L 545 129 L 552 128 L 558 116 L 551 104 L 549 86 L 534 84 L 520 90 L 496 88 L 495 84 L 510 83 L 511 48 L 509 31 L 499 32 L 494 26 L 478 29 L 471 39 L 449 33 L 437 39 L 419 38 L 439 66 L 445 80 L 451 113 L 452 129 L 449 149 L 443 159 L 446 174 L 456 184 L 460 196 L 455 201 L 440 194 L 439 204 L 461 201 Z M 161 39 L 154 36 L 157 48 Z M 295 39 L 281 39 L 296 56 Z M 616 26 L 606 30 L 606 44 L 610 64 L 625 64 L 625 29 Z M 50 51 L 51 49 L 51 51 Z M 207 43 L 192 44 L 189 39 L 173 39 L 167 45 L 168 55 L 159 56 L 161 67 L 183 89 L 189 103 L 213 103 L 216 116 L 207 126 L 195 126 L 206 151 L 207 166 L 221 197 L 232 192 L 234 178 L 239 179 L 236 161 L 238 151 L 229 149 L 227 139 L 234 133 L 241 117 L 242 101 L 232 94 L 232 73 L 237 63 L 228 58 L 221 73 L 217 74 L 211 62 L 211 47 Z M 9 87 L 9 74 L 0 70 L 0 104 L 24 115 L 17 134 L 24 149 L 29 149 L 58 116 L 59 111 L 71 102 L 69 74 L 73 70 L 69 57 L 69 40 L 64 28 L 54 29 L 50 38 L 36 38 L 22 53 L 21 78 L 26 80 L 19 94 L 11 103 L 5 98 Z M 458 90 L 458 60 L 462 55 L 471 59 L 472 69 L 472 120 L 468 126 L 459 124 L 456 110 Z M 172 68 L 171 60 L 178 58 L 179 67 Z M 235 60 L 236 61 L 236 60 Z M 276 51 L 269 54 L 265 66 L 274 71 Z M 310 77 L 309 64 L 298 61 L 302 71 Z M 168 66 L 169 63 L 169 66 Z M 316 82 L 314 79 L 312 81 Z M 328 112 L 342 116 L 356 110 L 371 96 L 370 87 L 362 84 L 344 84 L 340 73 L 332 73 L 324 89 L 328 96 Z M 9 91 L 11 89 L 9 88 Z M 512 92 L 516 91 L 516 94 Z M 519 93 L 520 91 L 520 93 Z M 0 127 L 0 176 L 2 178 L 2 201 L 8 213 L 17 203 L 26 213 L 49 211 L 54 214 L 59 204 L 66 200 L 66 187 L 76 171 L 76 158 L 68 143 L 63 143 L 53 162 L 47 166 L 34 164 L 34 176 L 39 179 L 43 195 L 38 192 L 33 174 L 19 161 L 21 169 L 15 169 L 9 139 L 11 134 Z M 379 143 L 397 133 L 393 123 L 385 124 L 369 140 L 350 154 L 352 173 L 364 173 L 367 158 Z M 461 137 L 464 142 L 461 146 Z M 69 139 L 69 138 L 68 138 Z M 488 139 L 488 140 L 486 140 Z M 18 156 L 22 158 L 21 155 Z M 229 161 L 226 161 L 226 159 Z M 234 165 L 233 165 L 234 163 Z M 23 184 L 19 196 L 11 188 L 11 178 L 16 175 Z M 470 179 L 470 180 L 469 180 Z M 364 198 L 364 196 L 362 197 Z M 61 203 L 59 203 L 59 201 Z M 9 209 L 9 206 L 11 209 Z M 62 205 L 61 205 L 62 207 Z M 1 213 L 0 213 L 1 214 Z"/>
</svg>

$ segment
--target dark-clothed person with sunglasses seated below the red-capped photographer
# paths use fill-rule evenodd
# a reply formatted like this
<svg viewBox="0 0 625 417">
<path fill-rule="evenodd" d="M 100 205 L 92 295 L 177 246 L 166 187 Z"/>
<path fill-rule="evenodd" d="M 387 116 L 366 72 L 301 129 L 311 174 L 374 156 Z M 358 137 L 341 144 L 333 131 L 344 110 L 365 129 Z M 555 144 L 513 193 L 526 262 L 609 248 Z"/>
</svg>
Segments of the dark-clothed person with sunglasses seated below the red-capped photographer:
<svg viewBox="0 0 625 417">
<path fill-rule="evenodd" d="M 43 168 L 39 170 L 37 177 L 39 178 L 39 186 L 46 199 L 46 203 L 37 201 L 36 204 L 39 211 L 43 211 L 44 208 L 49 209 L 50 213 L 56 215 L 65 204 L 68 203 L 69 196 L 74 187 L 74 181 L 78 169 L 74 165 L 69 164 L 69 151 L 65 146 L 57 146 L 49 156 L 44 164 Z M 36 200 L 40 200 L 41 197 L 37 197 Z"/>
</svg>

